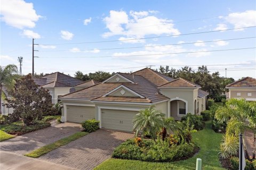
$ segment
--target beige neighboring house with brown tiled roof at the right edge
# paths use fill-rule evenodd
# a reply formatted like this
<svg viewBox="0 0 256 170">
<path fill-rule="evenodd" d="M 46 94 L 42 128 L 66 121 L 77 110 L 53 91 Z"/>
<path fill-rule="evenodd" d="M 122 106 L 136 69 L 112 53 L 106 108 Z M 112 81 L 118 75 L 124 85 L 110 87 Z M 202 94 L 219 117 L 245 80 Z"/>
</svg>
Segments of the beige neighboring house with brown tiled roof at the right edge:
<svg viewBox="0 0 256 170">
<path fill-rule="evenodd" d="M 256 79 L 246 77 L 226 86 L 229 90 L 227 99 L 245 98 L 247 101 L 256 101 Z"/>
</svg>

